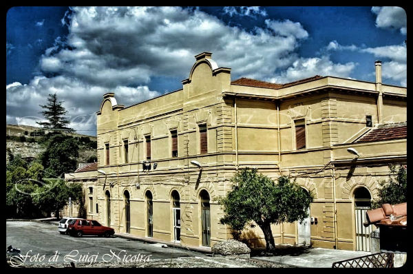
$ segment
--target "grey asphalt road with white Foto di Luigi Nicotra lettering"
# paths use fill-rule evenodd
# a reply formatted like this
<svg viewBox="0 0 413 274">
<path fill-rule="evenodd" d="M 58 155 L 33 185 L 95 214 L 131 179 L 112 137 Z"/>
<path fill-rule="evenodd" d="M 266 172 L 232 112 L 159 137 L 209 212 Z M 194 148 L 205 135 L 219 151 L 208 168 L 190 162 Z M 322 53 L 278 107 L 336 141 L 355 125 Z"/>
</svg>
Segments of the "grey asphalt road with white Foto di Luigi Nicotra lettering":
<svg viewBox="0 0 413 274">
<path fill-rule="evenodd" d="M 136 262 L 178 257 L 204 256 L 195 251 L 162 248 L 136 240 L 112 236 L 74 238 L 61 235 L 57 225 L 49 222 L 6 222 L 6 248 L 12 245 L 25 256 L 24 265 L 53 263 Z"/>
</svg>

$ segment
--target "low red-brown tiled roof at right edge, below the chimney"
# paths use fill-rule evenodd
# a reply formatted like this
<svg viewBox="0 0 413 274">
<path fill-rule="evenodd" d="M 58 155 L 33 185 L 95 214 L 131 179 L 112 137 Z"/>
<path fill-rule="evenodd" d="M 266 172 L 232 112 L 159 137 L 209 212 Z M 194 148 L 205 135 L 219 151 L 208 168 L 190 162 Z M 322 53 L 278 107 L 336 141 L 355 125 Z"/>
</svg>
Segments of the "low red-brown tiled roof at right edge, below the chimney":
<svg viewBox="0 0 413 274">
<path fill-rule="evenodd" d="M 383 140 L 396 140 L 407 138 L 407 124 L 383 126 L 372 129 L 368 134 L 357 140 L 357 143 L 376 142 Z"/>
</svg>

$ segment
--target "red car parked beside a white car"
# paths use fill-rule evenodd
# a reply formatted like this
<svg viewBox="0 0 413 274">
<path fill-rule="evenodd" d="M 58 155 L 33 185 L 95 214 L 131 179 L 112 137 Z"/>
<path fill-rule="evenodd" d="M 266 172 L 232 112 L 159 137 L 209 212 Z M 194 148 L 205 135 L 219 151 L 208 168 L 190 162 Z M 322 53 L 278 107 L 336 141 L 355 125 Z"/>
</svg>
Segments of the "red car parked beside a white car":
<svg viewBox="0 0 413 274">
<path fill-rule="evenodd" d="M 67 226 L 67 233 L 72 236 L 82 237 L 83 235 L 98 235 L 109 237 L 114 235 L 114 229 L 99 224 L 96 220 L 70 220 Z"/>
</svg>

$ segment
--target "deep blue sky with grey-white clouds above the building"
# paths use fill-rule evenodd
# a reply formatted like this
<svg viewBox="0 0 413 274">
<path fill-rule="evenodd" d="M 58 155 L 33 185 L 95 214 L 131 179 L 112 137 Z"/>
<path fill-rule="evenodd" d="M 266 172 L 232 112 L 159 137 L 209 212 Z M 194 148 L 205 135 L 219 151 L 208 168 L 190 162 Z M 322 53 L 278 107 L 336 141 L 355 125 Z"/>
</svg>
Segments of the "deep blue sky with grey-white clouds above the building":
<svg viewBox="0 0 413 274">
<path fill-rule="evenodd" d="M 96 135 L 103 94 L 129 106 L 182 88 L 212 52 L 231 78 L 315 76 L 407 86 L 407 19 L 398 7 L 14 7 L 6 17 L 6 122 L 36 125 L 47 94 L 70 126 Z"/>
</svg>

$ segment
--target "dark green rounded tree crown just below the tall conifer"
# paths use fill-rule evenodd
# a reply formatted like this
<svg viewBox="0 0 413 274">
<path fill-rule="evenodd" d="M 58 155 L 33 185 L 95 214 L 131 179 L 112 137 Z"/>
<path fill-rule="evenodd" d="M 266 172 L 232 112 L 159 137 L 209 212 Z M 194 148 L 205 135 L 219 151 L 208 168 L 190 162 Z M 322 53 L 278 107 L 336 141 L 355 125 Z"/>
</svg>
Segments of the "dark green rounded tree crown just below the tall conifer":
<svg viewBox="0 0 413 274">
<path fill-rule="evenodd" d="M 47 143 L 41 161 L 48 177 L 59 177 L 76 169 L 78 144 L 72 136 L 55 135 Z"/>
</svg>

